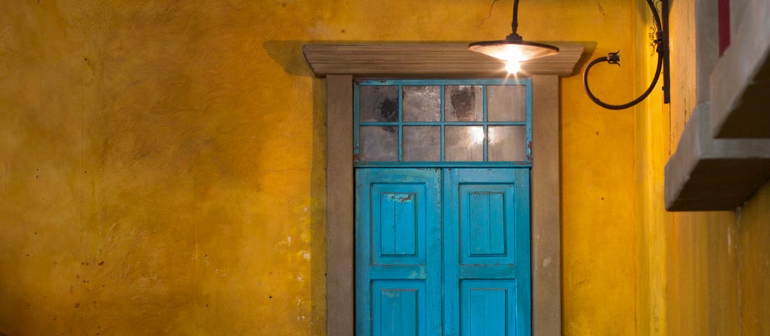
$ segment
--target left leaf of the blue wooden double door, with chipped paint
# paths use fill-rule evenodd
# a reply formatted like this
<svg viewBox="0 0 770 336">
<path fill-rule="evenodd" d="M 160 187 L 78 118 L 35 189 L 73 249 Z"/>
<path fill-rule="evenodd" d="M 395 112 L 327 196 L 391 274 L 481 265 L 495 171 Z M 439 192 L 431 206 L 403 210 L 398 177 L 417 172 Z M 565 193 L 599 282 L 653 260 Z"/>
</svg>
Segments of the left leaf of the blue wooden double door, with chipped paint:
<svg viewBox="0 0 770 336">
<path fill-rule="evenodd" d="M 357 335 L 440 334 L 440 181 L 437 169 L 356 170 Z"/>
</svg>

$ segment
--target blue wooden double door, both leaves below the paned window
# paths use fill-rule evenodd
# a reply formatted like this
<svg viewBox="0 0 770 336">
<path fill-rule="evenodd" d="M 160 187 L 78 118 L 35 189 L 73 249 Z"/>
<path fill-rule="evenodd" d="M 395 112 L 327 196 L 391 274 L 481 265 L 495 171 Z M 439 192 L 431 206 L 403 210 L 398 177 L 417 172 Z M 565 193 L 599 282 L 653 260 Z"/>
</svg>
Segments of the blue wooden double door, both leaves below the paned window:
<svg viewBox="0 0 770 336">
<path fill-rule="evenodd" d="M 528 168 L 356 179 L 358 335 L 531 334 Z"/>
</svg>

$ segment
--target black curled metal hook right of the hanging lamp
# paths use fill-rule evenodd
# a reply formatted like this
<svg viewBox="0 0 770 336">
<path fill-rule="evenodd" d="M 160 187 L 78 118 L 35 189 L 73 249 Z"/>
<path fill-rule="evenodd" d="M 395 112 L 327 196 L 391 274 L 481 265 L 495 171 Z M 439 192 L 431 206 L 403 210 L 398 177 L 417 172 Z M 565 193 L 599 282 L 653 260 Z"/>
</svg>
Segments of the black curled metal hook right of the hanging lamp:
<svg viewBox="0 0 770 336">
<path fill-rule="evenodd" d="M 650 95 L 650 92 L 652 92 L 652 89 L 654 89 L 655 85 L 658 84 L 658 77 L 661 76 L 661 68 L 663 67 L 663 43 L 667 43 L 663 41 L 663 32 L 661 29 L 661 17 L 658 14 L 658 8 L 655 8 L 655 5 L 652 3 L 652 0 L 647 0 L 647 4 L 650 6 L 650 10 L 652 11 L 653 18 L 655 20 L 655 27 L 658 29 L 657 32 L 655 32 L 656 38 L 655 43 L 657 47 L 655 48 L 655 52 L 658 52 L 658 66 L 655 68 L 655 76 L 652 79 L 652 82 L 650 83 L 650 86 L 647 88 L 644 93 L 641 94 L 637 99 L 632 100 L 631 102 L 627 102 L 625 104 L 621 105 L 612 105 L 608 104 L 606 102 L 602 102 L 600 99 L 598 99 L 594 94 L 591 92 L 591 89 L 588 88 L 588 70 L 591 69 L 591 66 L 594 66 L 597 63 L 600 62 L 608 62 L 609 64 L 615 64 L 620 66 L 621 65 L 621 58 L 618 55 L 619 52 L 610 52 L 608 55 L 604 57 L 599 57 L 598 59 L 594 59 L 590 63 L 588 63 L 588 66 L 585 67 L 583 70 L 583 87 L 585 89 L 586 94 L 588 94 L 588 98 L 590 98 L 593 102 L 595 102 L 598 106 L 604 107 L 605 109 L 628 109 L 631 106 L 634 106 L 647 98 L 647 96 Z"/>
</svg>

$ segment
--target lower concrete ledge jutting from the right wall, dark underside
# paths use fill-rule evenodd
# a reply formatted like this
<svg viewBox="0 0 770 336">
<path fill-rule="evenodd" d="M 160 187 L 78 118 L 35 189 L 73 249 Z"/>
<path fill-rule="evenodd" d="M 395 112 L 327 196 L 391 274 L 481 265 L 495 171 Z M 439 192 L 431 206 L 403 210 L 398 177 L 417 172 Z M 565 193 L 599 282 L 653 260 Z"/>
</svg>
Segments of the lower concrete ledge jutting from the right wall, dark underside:
<svg viewBox="0 0 770 336">
<path fill-rule="evenodd" d="M 695 107 L 666 163 L 666 210 L 732 210 L 770 177 L 770 139 L 715 139 L 710 107 Z"/>
</svg>

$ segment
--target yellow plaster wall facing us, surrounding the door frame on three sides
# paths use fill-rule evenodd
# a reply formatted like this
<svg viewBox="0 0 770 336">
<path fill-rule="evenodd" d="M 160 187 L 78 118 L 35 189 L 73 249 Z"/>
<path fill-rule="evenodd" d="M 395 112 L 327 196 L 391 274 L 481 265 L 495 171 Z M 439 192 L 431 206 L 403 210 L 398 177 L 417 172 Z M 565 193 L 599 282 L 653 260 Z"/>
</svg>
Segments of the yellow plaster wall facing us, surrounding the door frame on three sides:
<svg viewBox="0 0 770 336">
<path fill-rule="evenodd" d="M 521 35 L 632 55 L 631 3 Z M 307 43 L 507 35 L 511 2 L 0 2 L 0 332 L 323 334 L 325 91 Z M 584 65 L 579 64 L 579 68 Z M 633 98 L 634 58 L 592 71 Z M 634 334 L 632 113 L 563 79 L 564 334 Z"/>
</svg>

